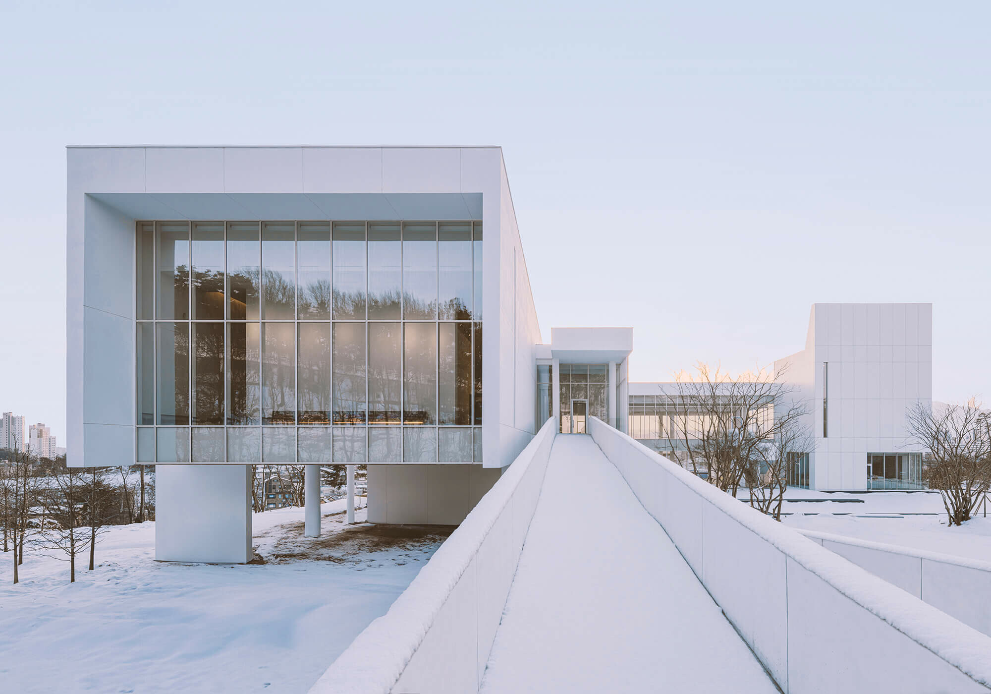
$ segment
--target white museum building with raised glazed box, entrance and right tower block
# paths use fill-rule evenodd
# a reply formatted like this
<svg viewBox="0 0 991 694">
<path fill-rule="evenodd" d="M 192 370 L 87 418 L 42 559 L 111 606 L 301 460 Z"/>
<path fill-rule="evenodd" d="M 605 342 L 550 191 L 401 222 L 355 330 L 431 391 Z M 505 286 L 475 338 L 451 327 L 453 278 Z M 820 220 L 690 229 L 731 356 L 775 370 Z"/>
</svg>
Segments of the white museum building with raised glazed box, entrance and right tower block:
<svg viewBox="0 0 991 694">
<path fill-rule="evenodd" d="M 260 463 L 310 491 L 368 465 L 369 521 L 455 524 L 551 415 L 670 443 L 631 328 L 541 343 L 497 147 L 67 157 L 67 461 L 158 466 L 159 559 L 250 560 Z M 817 303 L 784 362 L 814 431 L 796 485 L 921 485 L 932 304 Z"/>
</svg>

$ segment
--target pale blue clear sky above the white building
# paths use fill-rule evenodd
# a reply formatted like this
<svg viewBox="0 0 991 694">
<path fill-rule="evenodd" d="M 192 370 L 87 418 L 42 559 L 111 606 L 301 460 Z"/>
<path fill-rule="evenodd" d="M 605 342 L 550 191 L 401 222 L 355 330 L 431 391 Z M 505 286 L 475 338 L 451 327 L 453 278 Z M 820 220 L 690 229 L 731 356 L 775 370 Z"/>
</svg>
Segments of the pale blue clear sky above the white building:
<svg viewBox="0 0 991 694">
<path fill-rule="evenodd" d="M 991 400 L 987 2 L 36 4 L 0 6 L 0 409 L 62 442 L 67 144 L 501 145 L 545 339 L 632 326 L 665 380 L 933 301 L 934 396 Z"/>
</svg>

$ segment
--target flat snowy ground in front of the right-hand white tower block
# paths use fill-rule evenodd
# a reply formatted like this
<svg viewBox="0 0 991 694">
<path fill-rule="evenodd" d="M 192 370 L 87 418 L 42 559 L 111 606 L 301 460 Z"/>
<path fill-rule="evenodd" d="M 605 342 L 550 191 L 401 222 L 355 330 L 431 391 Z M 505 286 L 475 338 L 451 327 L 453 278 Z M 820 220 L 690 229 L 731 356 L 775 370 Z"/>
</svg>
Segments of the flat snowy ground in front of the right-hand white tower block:
<svg viewBox="0 0 991 694">
<path fill-rule="evenodd" d="M 737 496 L 746 499 L 748 494 L 741 490 Z M 813 499 L 827 501 L 801 501 Z M 971 521 L 947 526 L 938 493 L 845 494 L 791 488 L 783 512 L 790 514 L 782 519 L 790 527 L 991 561 L 991 515 L 984 518 L 982 507 Z"/>
</svg>

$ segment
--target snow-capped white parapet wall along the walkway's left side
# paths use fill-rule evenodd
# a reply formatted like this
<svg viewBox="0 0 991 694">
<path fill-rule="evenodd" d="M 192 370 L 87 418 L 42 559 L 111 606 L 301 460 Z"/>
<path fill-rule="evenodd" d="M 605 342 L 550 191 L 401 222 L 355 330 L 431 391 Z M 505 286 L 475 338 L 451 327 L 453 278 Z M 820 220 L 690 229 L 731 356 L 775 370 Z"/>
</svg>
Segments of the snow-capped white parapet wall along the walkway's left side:
<svg viewBox="0 0 991 694">
<path fill-rule="evenodd" d="M 310 694 L 477 692 L 540 496 L 556 417 Z"/>
</svg>

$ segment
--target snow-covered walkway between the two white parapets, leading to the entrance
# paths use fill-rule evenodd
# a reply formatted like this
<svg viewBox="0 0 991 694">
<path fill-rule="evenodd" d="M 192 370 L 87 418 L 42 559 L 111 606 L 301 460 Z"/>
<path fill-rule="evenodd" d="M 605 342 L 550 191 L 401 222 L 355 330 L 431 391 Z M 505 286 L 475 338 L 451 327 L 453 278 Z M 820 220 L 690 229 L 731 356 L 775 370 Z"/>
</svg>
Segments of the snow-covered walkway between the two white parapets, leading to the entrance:
<svg viewBox="0 0 991 694">
<path fill-rule="evenodd" d="M 559 434 L 482 691 L 777 689 L 592 437 Z"/>
</svg>

